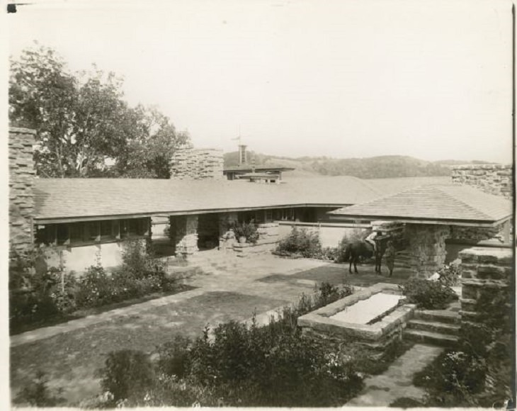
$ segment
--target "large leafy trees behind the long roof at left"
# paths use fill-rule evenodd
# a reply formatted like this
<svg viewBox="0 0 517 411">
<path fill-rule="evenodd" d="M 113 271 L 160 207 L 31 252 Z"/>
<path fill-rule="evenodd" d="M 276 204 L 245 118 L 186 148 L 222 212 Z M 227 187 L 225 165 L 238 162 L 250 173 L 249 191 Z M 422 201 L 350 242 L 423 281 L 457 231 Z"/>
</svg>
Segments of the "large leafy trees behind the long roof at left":
<svg viewBox="0 0 517 411">
<path fill-rule="evenodd" d="M 156 106 L 129 106 L 113 72 L 71 72 L 38 43 L 10 63 L 9 122 L 36 130 L 38 176 L 168 179 L 172 154 L 191 146 Z"/>
</svg>

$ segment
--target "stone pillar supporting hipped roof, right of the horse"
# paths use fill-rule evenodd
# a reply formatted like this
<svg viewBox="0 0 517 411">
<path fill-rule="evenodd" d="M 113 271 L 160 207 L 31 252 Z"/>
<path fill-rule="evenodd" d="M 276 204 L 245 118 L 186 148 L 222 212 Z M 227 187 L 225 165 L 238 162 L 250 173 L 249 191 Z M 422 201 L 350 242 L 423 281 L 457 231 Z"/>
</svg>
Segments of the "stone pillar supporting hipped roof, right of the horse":
<svg viewBox="0 0 517 411">
<path fill-rule="evenodd" d="M 445 239 L 449 235 L 448 225 L 407 224 L 411 269 L 415 275 L 428 278 L 445 262 Z"/>
</svg>

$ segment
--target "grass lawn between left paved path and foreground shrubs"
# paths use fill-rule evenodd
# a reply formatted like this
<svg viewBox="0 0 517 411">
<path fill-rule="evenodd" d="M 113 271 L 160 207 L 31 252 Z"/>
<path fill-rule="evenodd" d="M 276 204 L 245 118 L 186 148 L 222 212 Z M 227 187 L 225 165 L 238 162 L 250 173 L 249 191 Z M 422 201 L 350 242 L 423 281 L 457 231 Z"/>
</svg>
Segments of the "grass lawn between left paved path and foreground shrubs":
<svg viewBox="0 0 517 411">
<path fill-rule="evenodd" d="M 98 393 L 96 370 L 103 366 L 110 351 L 151 352 L 175 334 L 197 337 L 207 324 L 244 320 L 254 311 L 260 313 L 286 303 L 256 295 L 215 291 L 13 347 L 11 390 L 14 396 L 41 370 L 50 377 L 51 387 L 64 388 L 63 395 L 72 405 Z"/>
</svg>

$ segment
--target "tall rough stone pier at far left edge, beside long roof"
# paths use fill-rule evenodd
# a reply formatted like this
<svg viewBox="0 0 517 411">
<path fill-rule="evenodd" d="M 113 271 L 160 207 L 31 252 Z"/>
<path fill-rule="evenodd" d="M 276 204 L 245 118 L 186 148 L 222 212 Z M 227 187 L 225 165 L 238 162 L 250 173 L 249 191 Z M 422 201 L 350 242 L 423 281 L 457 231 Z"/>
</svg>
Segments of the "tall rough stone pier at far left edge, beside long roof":
<svg viewBox="0 0 517 411">
<path fill-rule="evenodd" d="M 35 130 L 9 128 L 9 257 L 33 244 Z"/>
</svg>

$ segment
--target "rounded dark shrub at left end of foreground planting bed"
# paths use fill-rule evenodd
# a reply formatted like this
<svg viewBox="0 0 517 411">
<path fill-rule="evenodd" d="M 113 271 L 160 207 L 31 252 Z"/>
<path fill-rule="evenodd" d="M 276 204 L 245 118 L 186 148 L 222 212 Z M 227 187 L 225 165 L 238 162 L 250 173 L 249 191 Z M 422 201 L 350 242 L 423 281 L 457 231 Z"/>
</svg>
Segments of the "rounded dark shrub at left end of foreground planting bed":
<svg viewBox="0 0 517 411">
<path fill-rule="evenodd" d="M 110 352 L 100 372 L 101 386 L 104 391 L 113 394 L 114 401 L 144 393 L 154 378 L 149 356 L 130 349 Z"/>
</svg>

